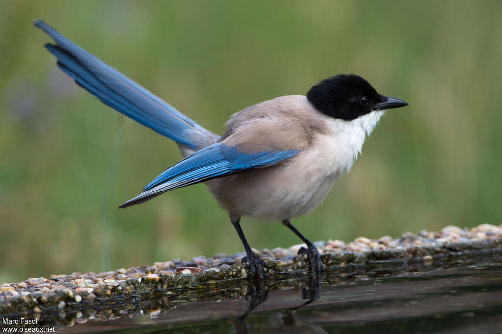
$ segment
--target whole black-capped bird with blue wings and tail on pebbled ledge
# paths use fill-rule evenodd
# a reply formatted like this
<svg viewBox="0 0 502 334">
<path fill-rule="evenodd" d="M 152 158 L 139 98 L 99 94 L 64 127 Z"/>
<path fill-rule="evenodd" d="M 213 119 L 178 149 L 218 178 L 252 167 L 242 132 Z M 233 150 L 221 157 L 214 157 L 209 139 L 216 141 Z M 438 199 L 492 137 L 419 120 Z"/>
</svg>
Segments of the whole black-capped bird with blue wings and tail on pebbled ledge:
<svg viewBox="0 0 502 334">
<path fill-rule="evenodd" d="M 269 267 L 247 243 L 241 217 L 282 222 L 305 243 L 298 254 L 306 256 L 308 270 L 321 274 L 317 247 L 291 219 L 324 201 L 335 181 L 350 171 L 387 109 L 408 105 L 380 94 L 358 75 L 339 74 L 317 82 L 305 96 L 282 96 L 244 108 L 217 135 L 45 22 L 36 20 L 35 26 L 54 40 L 45 48 L 78 85 L 179 146 L 183 159 L 119 208 L 205 183 L 242 242 L 246 255 L 241 262 L 248 276 L 258 279 L 264 279 Z"/>
</svg>

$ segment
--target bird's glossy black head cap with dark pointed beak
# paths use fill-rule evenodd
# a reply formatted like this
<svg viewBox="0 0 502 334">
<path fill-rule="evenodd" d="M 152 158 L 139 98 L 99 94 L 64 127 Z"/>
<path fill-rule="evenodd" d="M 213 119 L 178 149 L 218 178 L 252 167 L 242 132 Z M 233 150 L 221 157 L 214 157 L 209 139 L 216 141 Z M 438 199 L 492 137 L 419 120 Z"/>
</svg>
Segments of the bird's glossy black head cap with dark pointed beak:
<svg viewBox="0 0 502 334">
<path fill-rule="evenodd" d="M 307 99 L 323 114 L 351 121 L 374 110 L 408 105 L 403 100 L 379 94 L 355 74 L 339 74 L 310 88 Z"/>
</svg>

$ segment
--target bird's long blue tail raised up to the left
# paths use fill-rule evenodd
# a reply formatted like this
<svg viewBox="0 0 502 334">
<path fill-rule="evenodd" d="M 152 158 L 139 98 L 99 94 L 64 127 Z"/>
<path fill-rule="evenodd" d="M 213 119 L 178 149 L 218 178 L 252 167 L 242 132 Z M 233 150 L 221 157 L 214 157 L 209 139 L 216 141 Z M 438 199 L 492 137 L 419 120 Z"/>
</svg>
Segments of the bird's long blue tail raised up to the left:
<svg viewBox="0 0 502 334">
<path fill-rule="evenodd" d="M 58 66 L 105 104 L 193 150 L 217 140 L 216 134 L 86 52 L 45 22 L 37 20 L 35 26 L 56 42 L 47 43 L 45 47 L 56 56 Z"/>
</svg>

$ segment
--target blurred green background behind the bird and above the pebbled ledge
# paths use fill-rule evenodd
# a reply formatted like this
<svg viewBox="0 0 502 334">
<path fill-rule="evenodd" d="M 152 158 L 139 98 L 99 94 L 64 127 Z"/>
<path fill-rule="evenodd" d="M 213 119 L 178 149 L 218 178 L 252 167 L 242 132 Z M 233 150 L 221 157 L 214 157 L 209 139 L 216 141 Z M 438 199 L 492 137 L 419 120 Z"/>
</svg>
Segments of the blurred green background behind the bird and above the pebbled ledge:
<svg viewBox="0 0 502 334">
<path fill-rule="evenodd" d="M 79 88 L 43 19 L 199 124 L 356 73 L 410 106 L 389 111 L 349 175 L 294 225 L 345 242 L 500 224 L 502 2 L 0 2 L 0 282 L 235 253 L 205 185 L 132 208 L 181 155 Z M 255 248 L 300 240 L 243 220 Z"/>
</svg>

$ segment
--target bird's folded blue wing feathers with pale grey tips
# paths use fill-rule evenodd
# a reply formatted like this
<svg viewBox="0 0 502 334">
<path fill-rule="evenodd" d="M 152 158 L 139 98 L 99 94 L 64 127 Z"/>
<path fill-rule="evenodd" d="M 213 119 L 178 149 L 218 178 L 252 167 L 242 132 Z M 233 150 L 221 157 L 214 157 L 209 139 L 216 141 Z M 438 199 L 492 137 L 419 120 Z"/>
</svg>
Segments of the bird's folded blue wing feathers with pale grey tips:
<svg viewBox="0 0 502 334">
<path fill-rule="evenodd" d="M 261 151 L 242 153 L 235 147 L 221 142 L 197 151 L 159 175 L 149 183 L 144 192 L 119 208 L 142 203 L 167 191 L 204 182 L 207 180 L 241 173 L 254 168 L 263 168 L 290 158 L 300 150 Z"/>
</svg>

